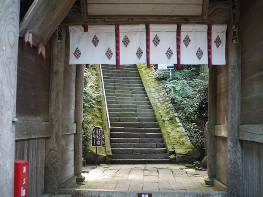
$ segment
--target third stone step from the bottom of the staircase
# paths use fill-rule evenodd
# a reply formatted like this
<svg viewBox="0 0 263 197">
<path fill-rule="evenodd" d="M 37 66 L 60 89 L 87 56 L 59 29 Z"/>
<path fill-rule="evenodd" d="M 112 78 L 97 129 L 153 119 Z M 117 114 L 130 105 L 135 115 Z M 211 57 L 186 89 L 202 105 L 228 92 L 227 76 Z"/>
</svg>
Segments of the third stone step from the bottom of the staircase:
<svg viewBox="0 0 263 197">
<path fill-rule="evenodd" d="M 112 148 L 113 154 L 154 154 L 167 153 L 166 148 Z"/>
</svg>

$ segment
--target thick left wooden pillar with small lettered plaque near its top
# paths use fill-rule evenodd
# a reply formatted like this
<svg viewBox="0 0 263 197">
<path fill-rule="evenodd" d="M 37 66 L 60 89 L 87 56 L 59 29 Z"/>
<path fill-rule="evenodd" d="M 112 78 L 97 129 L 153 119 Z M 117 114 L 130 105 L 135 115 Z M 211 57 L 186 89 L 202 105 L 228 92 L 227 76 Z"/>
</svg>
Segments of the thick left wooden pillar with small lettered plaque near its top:
<svg viewBox="0 0 263 197">
<path fill-rule="evenodd" d="M 56 194 L 60 185 L 61 140 L 63 129 L 63 74 L 65 62 L 65 27 L 62 26 L 62 42 L 52 36 L 49 118 L 51 137 L 46 139 L 45 193 Z"/>
</svg>

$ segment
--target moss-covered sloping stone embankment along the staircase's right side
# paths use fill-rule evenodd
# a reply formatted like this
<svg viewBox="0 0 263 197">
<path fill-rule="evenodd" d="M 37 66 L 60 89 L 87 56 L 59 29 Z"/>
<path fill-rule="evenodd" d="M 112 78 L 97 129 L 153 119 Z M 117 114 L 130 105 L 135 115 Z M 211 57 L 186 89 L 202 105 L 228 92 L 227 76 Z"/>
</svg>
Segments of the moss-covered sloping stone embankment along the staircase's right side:
<svg viewBox="0 0 263 197">
<path fill-rule="evenodd" d="M 162 84 L 154 78 L 153 70 L 147 69 L 145 64 L 137 64 L 137 68 L 152 108 L 155 111 L 169 153 L 173 154 L 175 152 L 196 156 L 196 150 L 190 143 L 184 129 L 179 125 L 172 105 L 167 105 L 170 100 L 165 94 Z M 195 154 L 192 154 L 192 152 Z"/>
</svg>

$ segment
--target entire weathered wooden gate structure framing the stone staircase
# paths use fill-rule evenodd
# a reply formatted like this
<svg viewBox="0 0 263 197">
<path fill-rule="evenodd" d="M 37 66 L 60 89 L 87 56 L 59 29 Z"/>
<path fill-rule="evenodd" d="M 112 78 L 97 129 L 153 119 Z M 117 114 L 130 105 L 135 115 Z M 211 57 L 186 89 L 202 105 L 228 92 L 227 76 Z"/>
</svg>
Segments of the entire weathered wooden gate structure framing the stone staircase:
<svg viewBox="0 0 263 197">
<path fill-rule="evenodd" d="M 69 65 L 67 26 L 138 23 L 228 25 L 227 65 L 209 71 L 206 181 L 230 197 L 263 196 L 262 0 L 5 0 L 0 18 L 2 196 L 13 196 L 14 159 L 29 161 L 31 197 L 82 179 L 84 65 Z"/>
</svg>

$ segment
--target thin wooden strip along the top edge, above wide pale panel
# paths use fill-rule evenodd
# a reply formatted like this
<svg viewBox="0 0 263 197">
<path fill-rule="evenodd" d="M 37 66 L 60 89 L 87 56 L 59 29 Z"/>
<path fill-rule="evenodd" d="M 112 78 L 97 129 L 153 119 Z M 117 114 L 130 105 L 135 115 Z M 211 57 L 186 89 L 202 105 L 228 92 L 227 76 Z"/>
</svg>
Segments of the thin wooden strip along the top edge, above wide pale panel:
<svg viewBox="0 0 263 197">
<path fill-rule="evenodd" d="M 87 4 L 203 4 L 203 0 L 86 0 Z"/>
</svg>

